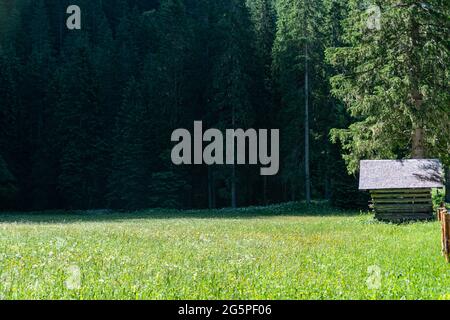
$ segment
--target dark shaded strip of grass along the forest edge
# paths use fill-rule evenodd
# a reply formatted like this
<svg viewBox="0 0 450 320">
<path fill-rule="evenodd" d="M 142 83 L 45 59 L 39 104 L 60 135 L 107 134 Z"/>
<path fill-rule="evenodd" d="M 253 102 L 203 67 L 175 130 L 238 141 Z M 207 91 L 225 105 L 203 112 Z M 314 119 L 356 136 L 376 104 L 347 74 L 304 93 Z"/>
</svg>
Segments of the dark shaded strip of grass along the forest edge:
<svg viewBox="0 0 450 320">
<path fill-rule="evenodd" d="M 290 202 L 264 207 L 224 208 L 214 210 L 145 209 L 140 211 L 120 210 L 54 210 L 32 212 L 0 212 L 0 223 L 18 224 L 69 224 L 80 222 L 120 222 L 136 219 L 254 219 L 276 216 L 330 217 L 357 216 L 360 210 L 345 210 L 329 205 L 327 201 Z"/>
</svg>

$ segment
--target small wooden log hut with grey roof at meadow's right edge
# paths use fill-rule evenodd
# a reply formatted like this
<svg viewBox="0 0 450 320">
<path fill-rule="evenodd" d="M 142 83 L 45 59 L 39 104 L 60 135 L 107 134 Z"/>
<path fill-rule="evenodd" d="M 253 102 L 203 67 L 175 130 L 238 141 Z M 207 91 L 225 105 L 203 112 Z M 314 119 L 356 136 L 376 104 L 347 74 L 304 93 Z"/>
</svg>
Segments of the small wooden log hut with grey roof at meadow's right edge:
<svg viewBox="0 0 450 320">
<path fill-rule="evenodd" d="M 363 160 L 360 163 L 359 189 L 370 192 L 370 206 L 379 220 L 433 218 L 431 189 L 443 186 L 439 160 Z"/>
</svg>

